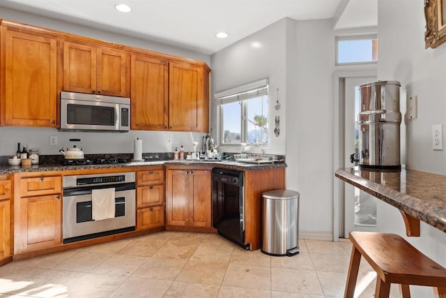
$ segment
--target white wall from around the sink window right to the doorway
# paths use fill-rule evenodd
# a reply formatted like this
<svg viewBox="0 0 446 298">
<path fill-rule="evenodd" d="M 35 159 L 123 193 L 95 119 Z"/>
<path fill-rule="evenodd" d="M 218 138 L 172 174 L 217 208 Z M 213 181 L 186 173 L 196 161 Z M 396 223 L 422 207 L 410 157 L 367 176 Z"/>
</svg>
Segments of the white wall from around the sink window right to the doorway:
<svg viewBox="0 0 446 298">
<path fill-rule="evenodd" d="M 254 41 L 262 47 L 253 48 Z M 213 54 L 211 65 L 214 91 L 270 77 L 270 123 L 280 116 L 281 135 L 272 137 L 267 152 L 286 154 L 286 188 L 300 192 L 300 230 L 331 234 L 331 21 L 279 20 Z M 279 111 L 273 107 L 276 88 Z"/>
</svg>

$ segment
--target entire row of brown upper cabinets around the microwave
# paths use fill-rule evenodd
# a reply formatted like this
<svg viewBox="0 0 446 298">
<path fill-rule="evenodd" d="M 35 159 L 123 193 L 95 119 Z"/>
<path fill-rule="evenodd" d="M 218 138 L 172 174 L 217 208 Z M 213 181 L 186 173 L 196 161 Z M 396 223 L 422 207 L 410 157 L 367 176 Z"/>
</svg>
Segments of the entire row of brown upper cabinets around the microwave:
<svg viewBox="0 0 446 298">
<path fill-rule="evenodd" d="M 130 97 L 132 130 L 209 131 L 203 62 L 0 20 L 0 125 L 59 126 L 61 91 Z"/>
</svg>

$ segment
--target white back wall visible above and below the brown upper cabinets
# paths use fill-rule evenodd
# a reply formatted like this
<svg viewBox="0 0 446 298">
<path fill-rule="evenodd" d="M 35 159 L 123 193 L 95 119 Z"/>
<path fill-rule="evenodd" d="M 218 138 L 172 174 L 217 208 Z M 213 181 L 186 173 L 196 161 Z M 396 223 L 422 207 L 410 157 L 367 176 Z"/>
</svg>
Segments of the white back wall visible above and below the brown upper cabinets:
<svg viewBox="0 0 446 298">
<path fill-rule="evenodd" d="M 151 43 L 146 40 L 130 38 L 128 36 L 119 35 L 109 31 L 100 31 L 82 27 L 76 24 L 60 22 L 57 20 L 22 13 L 17 10 L 1 8 L 0 18 L 15 22 L 22 22 L 47 29 L 75 33 L 81 36 L 88 36 L 100 40 L 107 40 L 123 45 L 131 45 L 141 47 L 146 50 L 153 50 L 166 54 L 173 54 L 179 57 L 197 59 L 210 65 L 210 56 L 199 54 L 187 50 L 181 50 L 177 47 L 160 45 Z M 58 144 L 56 146 L 49 145 L 49 136 L 56 135 Z M 174 151 L 175 147 L 181 144 L 185 147 L 185 151 L 192 151 L 192 142 L 197 140 L 200 142 L 203 133 L 170 133 L 160 131 L 131 131 L 130 133 L 67 133 L 59 132 L 54 128 L 24 128 L 24 127 L 0 127 L 0 156 L 12 155 L 17 151 L 17 142 L 27 144 L 29 148 L 36 147 L 40 149 L 40 154 L 59 154 L 61 147 L 68 147 L 70 144 L 68 139 L 71 137 L 79 137 L 82 140 L 82 147 L 86 154 L 100 153 L 132 153 L 133 140 L 139 137 L 143 140 L 144 152 L 165 152 Z M 167 137 L 172 137 L 173 144 L 167 145 Z M 192 140 L 193 139 L 193 140 Z"/>
</svg>

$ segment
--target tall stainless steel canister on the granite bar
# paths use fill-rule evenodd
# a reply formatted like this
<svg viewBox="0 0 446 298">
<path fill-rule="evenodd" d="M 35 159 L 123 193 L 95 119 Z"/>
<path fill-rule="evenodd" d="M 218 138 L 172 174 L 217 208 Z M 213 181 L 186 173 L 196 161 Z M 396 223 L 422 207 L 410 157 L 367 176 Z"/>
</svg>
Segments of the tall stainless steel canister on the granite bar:
<svg viewBox="0 0 446 298">
<path fill-rule="evenodd" d="M 360 85 L 360 166 L 401 167 L 398 81 Z"/>
</svg>

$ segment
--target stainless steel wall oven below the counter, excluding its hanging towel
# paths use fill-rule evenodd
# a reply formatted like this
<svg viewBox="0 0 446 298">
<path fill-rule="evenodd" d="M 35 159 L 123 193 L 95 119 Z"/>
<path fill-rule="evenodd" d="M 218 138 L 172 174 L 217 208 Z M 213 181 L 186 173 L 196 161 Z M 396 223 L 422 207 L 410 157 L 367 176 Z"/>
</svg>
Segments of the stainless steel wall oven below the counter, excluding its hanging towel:
<svg viewBox="0 0 446 298">
<path fill-rule="evenodd" d="M 135 230 L 134 172 L 63 177 L 63 243 Z M 92 191 L 115 188 L 115 216 L 92 218 Z"/>
</svg>

